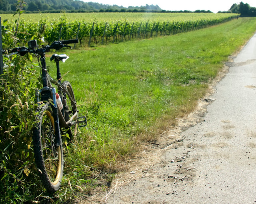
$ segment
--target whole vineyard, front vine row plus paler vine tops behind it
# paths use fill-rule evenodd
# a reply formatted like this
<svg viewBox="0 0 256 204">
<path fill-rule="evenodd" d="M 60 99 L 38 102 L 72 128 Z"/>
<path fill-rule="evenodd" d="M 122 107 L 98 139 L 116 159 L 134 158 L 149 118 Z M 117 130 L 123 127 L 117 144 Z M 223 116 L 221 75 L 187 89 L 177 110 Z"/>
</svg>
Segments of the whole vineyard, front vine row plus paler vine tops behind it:
<svg viewBox="0 0 256 204">
<path fill-rule="evenodd" d="M 90 14 L 84 19 L 81 16 L 71 18 L 70 14 L 58 14 L 52 17 L 50 17 L 52 14 L 41 15 L 32 18 L 30 14 L 21 19 L 17 33 L 18 39 L 29 41 L 36 35 L 44 37 L 48 43 L 76 37 L 80 39 L 81 45 L 88 42 L 90 45 L 91 41 L 95 44 L 114 43 L 202 29 L 237 18 L 238 14 L 134 14 L 133 16 L 124 14 L 120 16 L 118 13 L 119 18 L 116 14 L 108 14 L 108 16 Z M 36 21 L 36 18 L 41 20 Z M 8 19 L 8 16 L 3 16 L 3 19 Z M 5 26 L 15 30 L 16 24 L 14 20 L 8 20 Z"/>
</svg>

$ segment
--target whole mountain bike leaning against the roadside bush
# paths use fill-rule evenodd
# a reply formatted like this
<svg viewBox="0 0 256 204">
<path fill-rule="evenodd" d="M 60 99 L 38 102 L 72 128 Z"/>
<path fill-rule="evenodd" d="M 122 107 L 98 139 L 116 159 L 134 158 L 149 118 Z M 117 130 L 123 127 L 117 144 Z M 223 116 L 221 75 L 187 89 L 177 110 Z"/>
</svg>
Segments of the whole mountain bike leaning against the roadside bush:
<svg viewBox="0 0 256 204">
<path fill-rule="evenodd" d="M 78 127 L 87 125 L 85 116 L 78 117 L 76 99 L 70 82 L 61 82 L 59 62 L 65 61 L 68 56 L 54 54 L 50 58 L 56 63 L 57 80 L 53 79 L 46 69 L 45 53 L 51 49 L 71 48 L 68 46 L 70 43 L 78 43 L 78 39 L 56 41 L 42 48 L 38 48 L 37 41 L 32 40 L 28 42 L 28 47 L 11 49 L 11 55 L 35 54 L 40 66 L 43 87 L 36 91 L 38 108 L 32 141 L 38 174 L 48 192 L 56 192 L 63 177 L 62 133 L 68 133 L 69 138 L 72 139 Z M 54 85 L 57 87 L 57 92 Z"/>
</svg>

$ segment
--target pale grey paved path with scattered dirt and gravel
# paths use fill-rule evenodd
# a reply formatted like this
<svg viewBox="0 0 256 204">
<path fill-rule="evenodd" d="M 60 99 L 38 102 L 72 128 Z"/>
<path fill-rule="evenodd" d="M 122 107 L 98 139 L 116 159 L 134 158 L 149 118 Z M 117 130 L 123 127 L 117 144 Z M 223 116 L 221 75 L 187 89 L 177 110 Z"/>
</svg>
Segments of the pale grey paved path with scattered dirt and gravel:
<svg viewBox="0 0 256 204">
<path fill-rule="evenodd" d="M 215 90 L 204 121 L 182 133 L 189 140 L 107 204 L 256 202 L 256 35 Z"/>
</svg>

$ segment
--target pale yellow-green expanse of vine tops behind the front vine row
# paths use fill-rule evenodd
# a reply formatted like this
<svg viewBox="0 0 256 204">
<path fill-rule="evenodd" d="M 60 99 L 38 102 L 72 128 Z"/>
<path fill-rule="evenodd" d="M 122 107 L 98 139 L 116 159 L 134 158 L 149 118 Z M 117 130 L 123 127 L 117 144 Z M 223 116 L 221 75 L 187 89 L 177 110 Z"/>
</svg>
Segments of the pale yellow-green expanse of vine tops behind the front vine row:
<svg viewBox="0 0 256 204">
<path fill-rule="evenodd" d="M 233 16 L 234 14 L 213 14 L 213 13 L 67 13 L 67 14 L 22 14 L 26 22 L 38 22 L 46 19 L 50 22 L 58 21 L 62 16 L 66 16 L 68 22 L 116 22 L 119 20 L 127 21 L 184 21 L 199 19 L 215 19 Z M 13 14 L 1 14 L 2 20 L 16 20 L 18 16 Z"/>
</svg>

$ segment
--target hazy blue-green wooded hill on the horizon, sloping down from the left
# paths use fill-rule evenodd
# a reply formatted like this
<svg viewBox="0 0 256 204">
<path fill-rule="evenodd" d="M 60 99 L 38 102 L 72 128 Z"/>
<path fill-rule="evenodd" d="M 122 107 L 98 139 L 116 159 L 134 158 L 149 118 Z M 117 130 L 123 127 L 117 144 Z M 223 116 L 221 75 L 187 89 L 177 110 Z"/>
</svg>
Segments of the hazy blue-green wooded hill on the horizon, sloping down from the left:
<svg viewBox="0 0 256 204">
<path fill-rule="evenodd" d="M 140 11 L 156 11 L 161 12 L 162 9 L 156 5 L 146 6 L 123 6 L 99 4 L 94 2 L 83 2 L 80 0 L 24 0 L 23 10 L 26 12 L 59 12 L 66 10 L 67 12 L 140 12 Z M 0 0 L 0 12 L 16 11 L 17 0 Z"/>
</svg>

